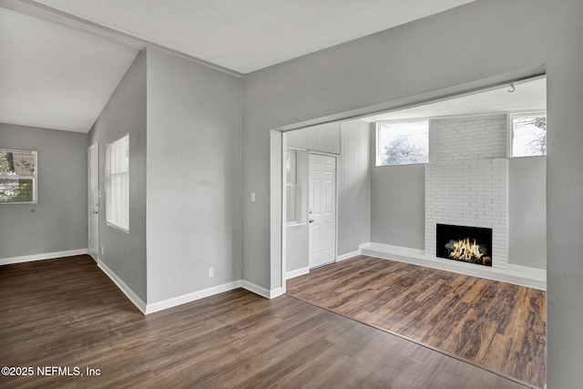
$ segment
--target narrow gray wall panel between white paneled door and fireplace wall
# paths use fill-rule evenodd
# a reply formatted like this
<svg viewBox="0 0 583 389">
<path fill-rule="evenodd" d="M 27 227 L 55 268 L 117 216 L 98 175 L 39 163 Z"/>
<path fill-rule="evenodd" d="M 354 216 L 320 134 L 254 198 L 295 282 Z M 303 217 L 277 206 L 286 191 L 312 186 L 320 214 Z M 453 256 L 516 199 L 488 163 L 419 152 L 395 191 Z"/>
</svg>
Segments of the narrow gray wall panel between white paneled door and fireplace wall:
<svg viewBox="0 0 583 389">
<path fill-rule="evenodd" d="M 371 241 L 371 125 L 350 120 L 340 126 L 337 255 L 356 251 L 359 244 Z"/>
</svg>

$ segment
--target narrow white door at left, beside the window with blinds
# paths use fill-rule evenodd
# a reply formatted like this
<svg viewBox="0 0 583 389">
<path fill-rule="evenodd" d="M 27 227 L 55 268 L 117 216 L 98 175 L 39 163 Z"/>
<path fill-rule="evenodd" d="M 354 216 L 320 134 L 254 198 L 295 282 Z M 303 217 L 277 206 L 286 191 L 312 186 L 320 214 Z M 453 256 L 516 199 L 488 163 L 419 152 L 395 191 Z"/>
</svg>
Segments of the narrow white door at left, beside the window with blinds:
<svg viewBox="0 0 583 389">
<path fill-rule="evenodd" d="M 87 150 L 87 252 L 99 259 L 99 146 Z"/>
</svg>

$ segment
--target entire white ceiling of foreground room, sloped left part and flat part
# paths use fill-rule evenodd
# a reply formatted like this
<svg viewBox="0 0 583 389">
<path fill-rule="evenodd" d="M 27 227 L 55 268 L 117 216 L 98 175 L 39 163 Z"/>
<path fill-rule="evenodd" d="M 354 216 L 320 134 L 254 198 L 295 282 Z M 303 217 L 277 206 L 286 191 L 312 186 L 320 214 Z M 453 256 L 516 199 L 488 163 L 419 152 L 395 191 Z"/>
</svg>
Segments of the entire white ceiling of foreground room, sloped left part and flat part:
<svg viewBox="0 0 583 389">
<path fill-rule="evenodd" d="M 144 46 L 246 74 L 473 0 L 0 0 L 0 122 L 87 132 Z"/>
</svg>

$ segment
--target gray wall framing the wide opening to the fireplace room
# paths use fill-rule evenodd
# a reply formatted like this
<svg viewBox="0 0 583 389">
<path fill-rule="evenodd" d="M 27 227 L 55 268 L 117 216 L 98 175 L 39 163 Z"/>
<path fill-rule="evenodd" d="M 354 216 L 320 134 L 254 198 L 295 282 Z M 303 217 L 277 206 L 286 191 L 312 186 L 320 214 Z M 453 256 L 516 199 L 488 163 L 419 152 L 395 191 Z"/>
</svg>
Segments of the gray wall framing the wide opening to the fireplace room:
<svg viewBox="0 0 583 389">
<path fill-rule="evenodd" d="M 243 90 L 243 278 L 277 286 L 271 268 L 270 129 L 351 110 L 399 107 L 547 71 L 548 387 L 583 370 L 583 3 L 477 0 L 247 75 Z M 541 27 L 541 21 L 544 26 Z M 413 49 L 414 48 L 414 49 Z M 447 55 L 444 55 L 447 53 Z M 359 111 L 361 112 L 361 111 Z M 277 148 L 271 152 L 275 153 Z M 281 182 L 274 182 L 277 187 Z M 274 199 L 276 201 L 277 199 Z M 281 241 L 281 239 L 280 239 Z M 275 252 L 275 251 L 274 251 Z"/>
</svg>

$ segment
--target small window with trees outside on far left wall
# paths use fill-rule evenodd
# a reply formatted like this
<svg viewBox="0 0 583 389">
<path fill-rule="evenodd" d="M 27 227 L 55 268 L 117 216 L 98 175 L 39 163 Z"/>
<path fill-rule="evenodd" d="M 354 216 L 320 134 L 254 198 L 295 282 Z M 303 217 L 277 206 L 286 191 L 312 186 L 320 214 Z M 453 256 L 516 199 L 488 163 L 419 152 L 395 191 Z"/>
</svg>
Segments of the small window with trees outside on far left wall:
<svg viewBox="0 0 583 389">
<path fill-rule="evenodd" d="M 0 148 L 0 203 L 36 202 L 36 151 Z"/>
</svg>

